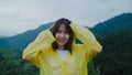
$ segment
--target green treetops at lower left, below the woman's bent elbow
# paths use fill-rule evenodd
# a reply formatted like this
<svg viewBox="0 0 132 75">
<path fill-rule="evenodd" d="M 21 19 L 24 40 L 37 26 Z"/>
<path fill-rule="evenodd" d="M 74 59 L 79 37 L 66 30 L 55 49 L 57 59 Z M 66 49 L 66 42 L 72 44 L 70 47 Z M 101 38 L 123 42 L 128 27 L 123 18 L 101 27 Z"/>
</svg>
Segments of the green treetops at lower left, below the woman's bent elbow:
<svg viewBox="0 0 132 75">
<path fill-rule="evenodd" d="M 0 49 L 0 75 L 38 75 L 38 69 L 25 63 L 16 51 Z"/>
</svg>

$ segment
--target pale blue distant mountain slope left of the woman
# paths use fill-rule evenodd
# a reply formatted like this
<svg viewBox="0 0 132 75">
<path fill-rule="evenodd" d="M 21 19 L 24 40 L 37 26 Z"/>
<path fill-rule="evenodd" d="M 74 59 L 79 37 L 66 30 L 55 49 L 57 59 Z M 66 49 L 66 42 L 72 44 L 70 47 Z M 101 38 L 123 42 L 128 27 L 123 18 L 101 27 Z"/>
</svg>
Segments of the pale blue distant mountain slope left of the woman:
<svg viewBox="0 0 132 75">
<path fill-rule="evenodd" d="M 2 38 L 0 39 L 0 46 L 23 50 L 30 42 L 32 42 L 37 36 L 41 31 L 48 29 L 53 24 L 54 22 L 42 24 L 35 30 L 29 30 L 14 36 Z"/>
</svg>

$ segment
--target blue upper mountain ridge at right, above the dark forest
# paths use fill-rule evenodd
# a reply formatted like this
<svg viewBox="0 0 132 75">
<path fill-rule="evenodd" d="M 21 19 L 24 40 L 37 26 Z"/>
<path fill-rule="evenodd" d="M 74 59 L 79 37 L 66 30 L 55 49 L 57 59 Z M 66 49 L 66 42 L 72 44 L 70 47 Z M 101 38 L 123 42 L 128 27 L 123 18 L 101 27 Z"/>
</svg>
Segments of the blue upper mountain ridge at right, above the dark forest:
<svg viewBox="0 0 132 75">
<path fill-rule="evenodd" d="M 118 33 L 124 31 L 125 29 L 132 28 L 132 13 L 123 13 L 111 18 L 102 23 L 98 23 L 90 30 L 95 33 L 97 38 L 105 38 L 111 33 Z"/>
</svg>

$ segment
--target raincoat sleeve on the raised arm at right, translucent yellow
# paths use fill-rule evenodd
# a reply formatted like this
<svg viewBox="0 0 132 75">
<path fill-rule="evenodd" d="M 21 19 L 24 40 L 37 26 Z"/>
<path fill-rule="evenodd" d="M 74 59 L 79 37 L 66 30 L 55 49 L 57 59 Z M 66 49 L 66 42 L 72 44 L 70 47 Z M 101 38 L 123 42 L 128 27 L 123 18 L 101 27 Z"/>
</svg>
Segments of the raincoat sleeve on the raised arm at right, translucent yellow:
<svg viewBox="0 0 132 75">
<path fill-rule="evenodd" d="M 86 60 L 90 61 L 96 54 L 101 52 L 102 46 L 96 40 L 95 35 L 86 28 L 78 25 L 74 22 L 70 23 L 70 28 L 75 33 L 75 36 L 82 42 L 82 50 L 86 51 Z"/>
</svg>

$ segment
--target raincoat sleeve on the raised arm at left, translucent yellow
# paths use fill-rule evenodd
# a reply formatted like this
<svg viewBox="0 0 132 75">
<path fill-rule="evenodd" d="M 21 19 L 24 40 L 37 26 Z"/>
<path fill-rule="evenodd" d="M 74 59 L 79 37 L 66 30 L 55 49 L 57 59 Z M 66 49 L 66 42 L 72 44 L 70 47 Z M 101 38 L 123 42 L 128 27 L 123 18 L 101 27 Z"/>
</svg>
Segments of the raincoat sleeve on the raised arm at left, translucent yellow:
<svg viewBox="0 0 132 75">
<path fill-rule="evenodd" d="M 44 53 L 44 51 L 48 49 L 48 45 L 51 45 L 54 41 L 55 39 L 50 30 L 42 31 L 37 38 L 23 51 L 23 60 L 35 66 L 40 66 L 41 53 Z"/>
</svg>

